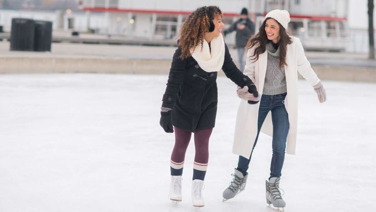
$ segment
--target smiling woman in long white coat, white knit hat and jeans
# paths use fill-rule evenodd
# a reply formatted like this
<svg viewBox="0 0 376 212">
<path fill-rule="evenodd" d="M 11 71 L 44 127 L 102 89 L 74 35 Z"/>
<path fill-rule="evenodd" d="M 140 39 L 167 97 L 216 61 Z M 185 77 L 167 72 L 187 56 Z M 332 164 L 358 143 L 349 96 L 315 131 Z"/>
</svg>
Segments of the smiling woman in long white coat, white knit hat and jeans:
<svg viewBox="0 0 376 212">
<path fill-rule="evenodd" d="M 248 167 L 260 133 L 273 136 L 270 177 L 266 183 L 267 203 L 285 207 L 279 191 L 282 166 L 287 154 L 295 154 L 297 128 L 297 71 L 313 86 L 319 101 L 326 101 L 325 89 L 304 55 L 300 40 L 286 32 L 290 14 L 283 10 L 269 12 L 246 46 L 244 74 L 255 82 L 261 94 L 259 104 L 249 105 L 249 94 L 238 88 L 241 101 L 235 125 L 232 152 L 239 155 L 238 167 L 230 186 L 224 190 L 224 201 L 243 191 Z M 262 127 L 262 128 L 261 128 Z M 277 209 L 279 210 L 279 209 Z"/>
</svg>

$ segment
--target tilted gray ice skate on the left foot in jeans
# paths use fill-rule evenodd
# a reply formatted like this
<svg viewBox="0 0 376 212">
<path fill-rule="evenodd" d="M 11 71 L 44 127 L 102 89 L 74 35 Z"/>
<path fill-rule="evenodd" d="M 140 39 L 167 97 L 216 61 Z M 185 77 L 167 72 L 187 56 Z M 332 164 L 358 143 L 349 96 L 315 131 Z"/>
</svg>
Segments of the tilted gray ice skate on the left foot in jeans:
<svg viewBox="0 0 376 212">
<path fill-rule="evenodd" d="M 240 192 L 245 189 L 247 184 L 248 173 L 243 176 L 241 171 L 235 169 L 235 174 L 231 174 L 231 176 L 234 178 L 232 178 L 230 186 L 223 191 L 223 202 L 235 197 L 235 195 L 240 194 Z"/>
</svg>

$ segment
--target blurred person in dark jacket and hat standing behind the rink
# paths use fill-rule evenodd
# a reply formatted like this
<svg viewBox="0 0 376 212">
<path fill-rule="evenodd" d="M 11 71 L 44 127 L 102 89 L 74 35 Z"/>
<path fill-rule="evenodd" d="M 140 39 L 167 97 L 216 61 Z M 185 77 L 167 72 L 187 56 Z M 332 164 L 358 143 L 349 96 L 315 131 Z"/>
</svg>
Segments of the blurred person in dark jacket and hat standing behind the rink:
<svg viewBox="0 0 376 212">
<path fill-rule="evenodd" d="M 247 45 L 249 38 L 255 34 L 255 24 L 249 19 L 248 17 L 248 10 L 247 8 L 243 8 L 240 13 L 240 18 L 231 24 L 231 26 L 226 29 L 223 33 L 226 37 L 227 34 L 236 30 L 235 35 L 235 43 L 238 49 L 238 57 L 239 57 L 239 66 L 240 71 L 244 71 L 245 65 L 245 53 L 246 49 L 244 49 Z"/>
</svg>

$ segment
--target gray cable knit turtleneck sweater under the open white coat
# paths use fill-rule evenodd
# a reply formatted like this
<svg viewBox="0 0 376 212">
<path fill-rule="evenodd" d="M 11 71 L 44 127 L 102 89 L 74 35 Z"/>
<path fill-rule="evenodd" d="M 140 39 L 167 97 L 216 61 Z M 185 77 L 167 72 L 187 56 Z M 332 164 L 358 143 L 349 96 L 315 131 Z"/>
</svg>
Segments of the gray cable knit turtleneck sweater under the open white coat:
<svg viewBox="0 0 376 212">
<path fill-rule="evenodd" d="M 266 45 L 268 51 L 268 64 L 266 67 L 264 95 L 277 95 L 287 92 L 285 69 L 279 68 L 279 47 L 275 49 L 273 44 Z"/>
</svg>

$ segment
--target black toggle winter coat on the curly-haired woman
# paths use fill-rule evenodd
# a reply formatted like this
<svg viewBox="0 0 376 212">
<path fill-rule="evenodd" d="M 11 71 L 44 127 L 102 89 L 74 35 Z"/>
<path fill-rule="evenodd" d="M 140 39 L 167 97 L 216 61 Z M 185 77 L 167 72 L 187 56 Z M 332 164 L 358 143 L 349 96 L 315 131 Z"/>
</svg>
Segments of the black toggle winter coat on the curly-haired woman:
<svg viewBox="0 0 376 212">
<path fill-rule="evenodd" d="M 176 49 L 168 75 L 162 107 L 172 108 L 172 125 L 195 132 L 213 128 L 217 115 L 217 72 L 202 70 L 192 57 L 180 59 L 180 46 Z M 240 87 L 252 84 L 250 78 L 233 63 L 225 44 L 223 72 Z"/>
</svg>

